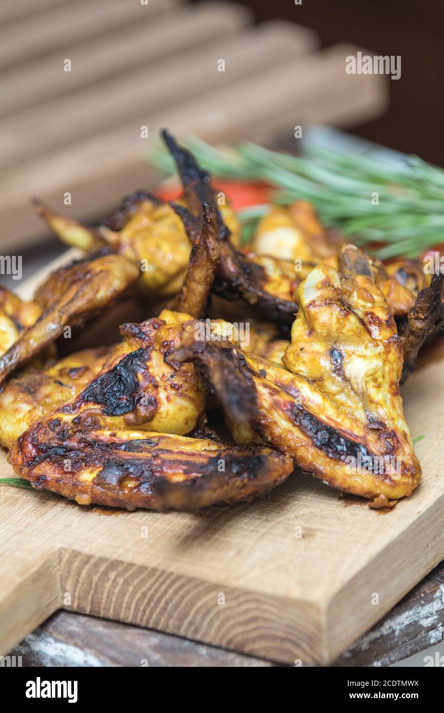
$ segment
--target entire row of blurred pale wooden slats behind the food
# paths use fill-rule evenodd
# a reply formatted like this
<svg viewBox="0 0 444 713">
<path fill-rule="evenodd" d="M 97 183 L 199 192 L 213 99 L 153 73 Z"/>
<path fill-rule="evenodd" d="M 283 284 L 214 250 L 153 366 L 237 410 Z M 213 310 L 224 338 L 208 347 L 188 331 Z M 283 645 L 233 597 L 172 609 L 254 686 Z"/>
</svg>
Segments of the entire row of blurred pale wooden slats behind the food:
<svg viewBox="0 0 444 713">
<path fill-rule="evenodd" d="M 312 31 L 254 25 L 222 0 L 6 1 L 0 23 L 4 252 L 41 238 L 33 195 L 94 220 L 153 184 L 145 157 L 164 125 L 182 137 L 269 143 L 297 123 L 349 127 L 386 108 L 386 78 L 345 73 L 358 48 L 319 51 Z"/>
</svg>

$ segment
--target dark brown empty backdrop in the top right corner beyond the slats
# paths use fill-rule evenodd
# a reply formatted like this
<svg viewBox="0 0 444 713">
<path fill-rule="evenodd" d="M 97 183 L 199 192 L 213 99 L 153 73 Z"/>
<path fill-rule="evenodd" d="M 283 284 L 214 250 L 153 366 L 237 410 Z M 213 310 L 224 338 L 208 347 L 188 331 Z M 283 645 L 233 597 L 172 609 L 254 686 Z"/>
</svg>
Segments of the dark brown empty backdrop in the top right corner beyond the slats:
<svg viewBox="0 0 444 713">
<path fill-rule="evenodd" d="M 387 111 L 351 130 L 363 138 L 444 165 L 442 0 L 241 0 L 257 21 L 281 18 L 316 32 L 320 46 L 351 42 L 376 55 L 401 55 Z"/>
</svg>

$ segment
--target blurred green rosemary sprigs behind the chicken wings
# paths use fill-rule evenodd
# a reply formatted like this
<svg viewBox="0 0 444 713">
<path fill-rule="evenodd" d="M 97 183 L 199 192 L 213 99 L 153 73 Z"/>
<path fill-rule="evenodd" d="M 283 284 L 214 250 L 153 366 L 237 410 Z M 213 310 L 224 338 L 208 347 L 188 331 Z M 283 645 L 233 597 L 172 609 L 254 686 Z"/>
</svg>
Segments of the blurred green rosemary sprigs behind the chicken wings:
<svg viewBox="0 0 444 713">
<path fill-rule="evenodd" d="M 393 163 L 372 151 L 309 148 L 299 158 L 249 142 L 221 150 L 195 137 L 187 146 L 216 177 L 269 183 L 272 202 L 311 200 L 325 225 L 382 259 L 417 257 L 444 242 L 444 170 L 416 156 Z M 160 151 L 150 162 L 173 170 L 170 156 Z M 267 210 L 258 205 L 239 211 L 244 237 Z"/>
</svg>

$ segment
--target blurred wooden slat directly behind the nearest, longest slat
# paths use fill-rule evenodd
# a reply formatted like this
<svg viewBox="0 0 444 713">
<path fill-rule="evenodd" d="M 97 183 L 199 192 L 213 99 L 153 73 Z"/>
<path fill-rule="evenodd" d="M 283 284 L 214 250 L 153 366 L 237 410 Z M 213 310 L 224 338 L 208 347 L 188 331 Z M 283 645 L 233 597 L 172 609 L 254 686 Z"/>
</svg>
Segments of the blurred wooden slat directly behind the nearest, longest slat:
<svg viewBox="0 0 444 713">
<path fill-rule="evenodd" d="M 76 140 L 150 116 L 198 97 L 205 88 L 221 91 L 244 77 L 305 53 L 293 26 L 267 24 L 234 36 L 214 38 L 204 47 L 167 58 L 154 68 L 132 69 L 118 78 L 0 121 L 0 167 L 54 152 Z M 245 51 L 245 48 L 248 51 Z M 225 71 L 218 71 L 220 59 Z M 144 123 L 144 122 L 142 122 Z"/>
</svg>

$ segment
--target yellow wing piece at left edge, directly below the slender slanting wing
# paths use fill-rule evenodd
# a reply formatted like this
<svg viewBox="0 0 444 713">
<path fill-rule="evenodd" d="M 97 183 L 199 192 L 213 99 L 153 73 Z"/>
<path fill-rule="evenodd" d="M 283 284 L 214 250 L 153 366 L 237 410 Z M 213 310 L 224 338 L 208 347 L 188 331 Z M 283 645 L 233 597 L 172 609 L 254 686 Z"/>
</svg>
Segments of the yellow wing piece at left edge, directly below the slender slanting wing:
<svg viewBox="0 0 444 713">
<path fill-rule="evenodd" d="M 28 368 L 0 392 L 0 443 L 10 448 L 35 421 L 75 396 L 98 373 L 111 347 L 83 349 L 46 369 Z"/>
</svg>

